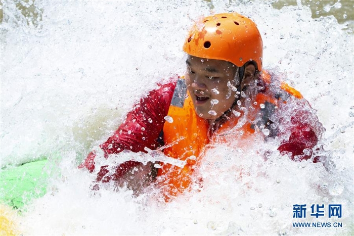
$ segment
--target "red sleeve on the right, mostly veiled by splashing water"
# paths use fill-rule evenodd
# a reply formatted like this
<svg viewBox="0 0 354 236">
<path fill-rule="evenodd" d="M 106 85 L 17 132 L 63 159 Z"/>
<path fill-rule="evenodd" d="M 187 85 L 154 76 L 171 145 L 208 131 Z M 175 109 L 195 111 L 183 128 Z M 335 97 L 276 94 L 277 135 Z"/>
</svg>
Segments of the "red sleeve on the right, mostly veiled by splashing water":
<svg viewBox="0 0 354 236">
<path fill-rule="evenodd" d="M 278 150 L 282 152 L 291 152 L 291 158 L 296 161 L 307 160 L 311 158 L 313 148 L 317 145 L 318 135 L 315 132 L 314 125 L 321 125 L 316 119 L 304 119 L 304 117 L 313 116 L 306 111 L 294 111 L 290 118 L 290 127 L 285 132 L 291 132 L 288 140 L 283 140 Z M 312 124 L 309 121 L 317 122 Z M 304 153 L 304 149 L 309 149 Z M 317 158 L 314 162 L 318 162 Z"/>
</svg>

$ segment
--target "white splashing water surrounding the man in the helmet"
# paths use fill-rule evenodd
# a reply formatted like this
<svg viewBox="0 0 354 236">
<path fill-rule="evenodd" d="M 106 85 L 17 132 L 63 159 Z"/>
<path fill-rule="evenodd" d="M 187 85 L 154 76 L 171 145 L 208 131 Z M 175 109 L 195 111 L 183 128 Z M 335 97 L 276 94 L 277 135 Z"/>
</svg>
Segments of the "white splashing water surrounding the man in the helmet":
<svg viewBox="0 0 354 236">
<path fill-rule="evenodd" d="M 33 21 L 17 2 L 4 2 L 1 165 L 48 157 L 48 168 L 60 170 L 49 179 L 48 194 L 20 216 L 21 232 L 352 234 L 352 35 L 332 16 L 313 20 L 301 4 L 276 10 L 263 1 L 236 2 L 35 1 Z M 168 204 L 154 190 L 138 197 L 124 187 L 91 191 L 96 175 L 77 163 L 156 82 L 183 75 L 181 45 L 192 19 L 232 10 L 257 23 L 263 66 L 282 72 L 317 110 L 327 130 L 318 146 L 333 165 L 291 161 L 277 151 L 280 140 L 264 143 L 258 131 L 251 143 L 240 133 L 229 145 L 208 148 L 197 171 L 203 188 Z M 283 114 L 285 123 L 296 106 Z M 61 158 L 51 159 L 54 152 Z M 293 227 L 293 204 L 342 204 L 343 227 Z"/>
</svg>

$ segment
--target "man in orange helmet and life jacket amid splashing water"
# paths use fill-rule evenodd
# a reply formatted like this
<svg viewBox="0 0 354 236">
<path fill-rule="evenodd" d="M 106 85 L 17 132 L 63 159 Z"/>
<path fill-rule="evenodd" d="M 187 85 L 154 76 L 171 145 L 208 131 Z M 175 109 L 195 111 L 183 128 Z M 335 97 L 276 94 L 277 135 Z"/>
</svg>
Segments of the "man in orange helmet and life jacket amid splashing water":
<svg viewBox="0 0 354 236">
<path fill-rule="evenodd" d="M 264 139 L 281 138 L 278 150 L 293 160 L 311 158 L 323 128 L 313 112 L 305 109 L 309 105 L 298 91 L 262 71 L 262 48 L 254 22 L 237 13 L 216 14 L 196 22 L 183 46 L 188 55 L 186 78 L 171 79 L 151 91 L 100 146 L 105 158 L 123 150 L 160 148 L 164 155 L 186 164 L 181 168 L 160 162 L 155 168 L 127 161 L 114 173 L 102 166 L 97 182 L 122 185 L 126 181 L 140 190 L 157 176 L 168 200 L 189 188 L 207 144 L 235 138 L 249 141 L 255 132 L 262 132 Z M 296 106 L 291 107 L 293 104 Z M 291 115 L 282 117 L 289 107 Z M 92 172 L 95 157 L 90 153 L 80 167 Z"/>
</svg>

